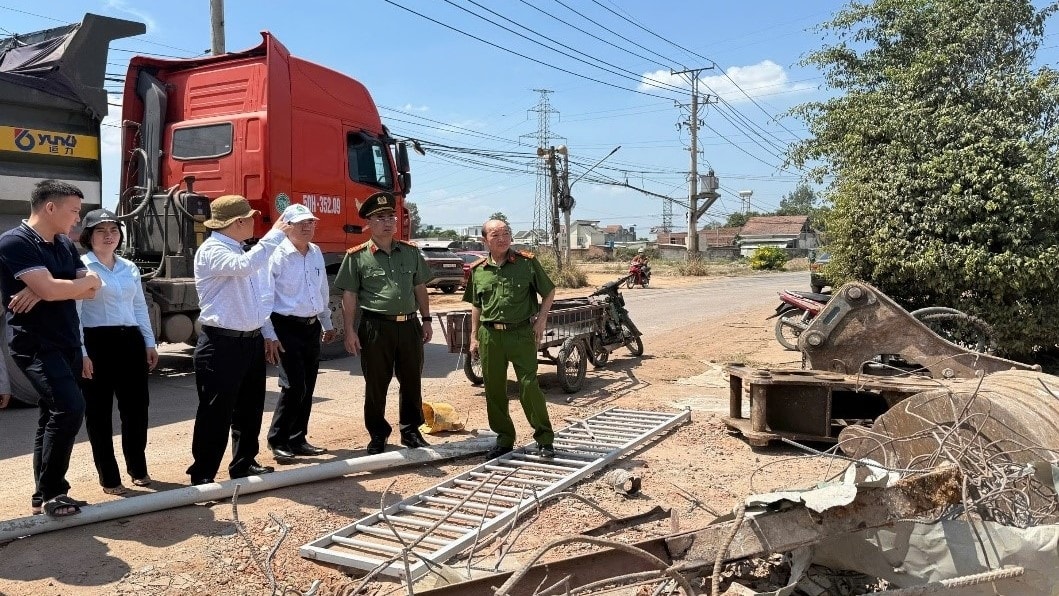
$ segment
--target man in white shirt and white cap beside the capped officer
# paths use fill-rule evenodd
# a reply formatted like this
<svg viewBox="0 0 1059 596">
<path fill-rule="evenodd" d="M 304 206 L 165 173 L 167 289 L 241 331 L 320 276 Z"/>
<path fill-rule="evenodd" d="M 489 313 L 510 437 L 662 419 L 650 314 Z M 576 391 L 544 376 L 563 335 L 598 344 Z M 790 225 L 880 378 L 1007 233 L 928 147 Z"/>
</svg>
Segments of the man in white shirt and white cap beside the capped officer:
<svg viewBox="0 0 1059 596">
<path fill-rule="evenodd" d="M 290 230 L 269 264 L 275 299 L 263 329 L 268 361 L 282 366 L 280 402 L 268 432 L 276 462 L 327 451 L 310 445 L 307 437 L 320 373 L 320 343 L 335 339 L 324 255 L 311 241 L 319 218 L 298 203 L 282 217 Z"/>
</svg>

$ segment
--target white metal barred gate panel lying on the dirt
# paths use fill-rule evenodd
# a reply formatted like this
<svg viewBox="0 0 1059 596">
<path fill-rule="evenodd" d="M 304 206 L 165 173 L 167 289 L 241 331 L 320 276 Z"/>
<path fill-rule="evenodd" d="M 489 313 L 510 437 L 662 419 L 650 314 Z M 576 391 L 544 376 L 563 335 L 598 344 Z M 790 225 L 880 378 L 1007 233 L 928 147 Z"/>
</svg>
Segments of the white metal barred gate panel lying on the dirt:
<svg viewBox="0 0 1059 596">
<path fill-rule="evenodd" d="M 687 410 L 605 410 L 556 432 L 554 458 L 536 455 L 534 444 L 526 445 L 305 544 L 300 553 L 363 571 L 384 566 L 381 575 L 417 579 L 539 499 L 689 419 Z"/>
</svg>

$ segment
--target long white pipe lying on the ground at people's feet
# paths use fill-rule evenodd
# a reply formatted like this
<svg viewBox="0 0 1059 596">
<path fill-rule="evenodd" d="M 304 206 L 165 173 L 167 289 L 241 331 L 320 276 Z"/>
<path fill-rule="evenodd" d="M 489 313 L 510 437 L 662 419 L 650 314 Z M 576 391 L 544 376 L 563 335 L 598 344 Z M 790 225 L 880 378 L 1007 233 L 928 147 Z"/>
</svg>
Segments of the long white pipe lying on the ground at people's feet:
<svg viewBox="0 0 1059 596">
<path fill-rule="evenodd" d="M 80 513 L 64 518 L 52 518 L 41 514 L 7 520 L 0 522 L 0 543 L 56 529 L 162 511 L 204 501 L 230 500 L 237 485 L 239 486 L 239 494 L 250 494 L 274 488 L 336 478 L 346 474 L 374 472 L 464 457 L 488 451 L 496 443 L 497 438 L 493 433 L 479 431 L 475 438 L 459 443 L 443 443 L 432 446 L 430 449 L 398 449 L 378 455 L 327 462 L 326 464 L 317 464 L 315 466 L 273 472 L 261 476 L 249 476 L 213 484 L 163 490 L 161 492 L 141 494 L 128 499 L 108 501 L 98 505 L 85 505 L 80 508 Z"/>
</svg>

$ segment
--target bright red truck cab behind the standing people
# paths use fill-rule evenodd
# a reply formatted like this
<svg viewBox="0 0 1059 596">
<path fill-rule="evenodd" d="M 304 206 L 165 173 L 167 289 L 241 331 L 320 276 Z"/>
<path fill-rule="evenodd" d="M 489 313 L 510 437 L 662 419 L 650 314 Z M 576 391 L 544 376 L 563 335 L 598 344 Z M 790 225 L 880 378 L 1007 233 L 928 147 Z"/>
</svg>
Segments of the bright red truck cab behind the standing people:
<svg viewBox="0 0 1059 596">
<path fill-rule="evenodd" d="M 122 196 L 150 185 L 147 174 L 160 189 L 191 176 L 195 192 L 209 198 L 247 197 L 264 214 L 257 236 L 288 204 L 303 203 L 320 218 L 315 241 L 339 256 L 367 237 L 357 207 L 369 195 L 394 193 L 407 222 L 407 153 L 390 139 L 367 89 L 291 56 L 267 32 L 262 38 L 256 48 L 220 56 L 132 58 L 122 110 Z M 408 238 L 407 224 L 398 236 Z"/>
</svg>

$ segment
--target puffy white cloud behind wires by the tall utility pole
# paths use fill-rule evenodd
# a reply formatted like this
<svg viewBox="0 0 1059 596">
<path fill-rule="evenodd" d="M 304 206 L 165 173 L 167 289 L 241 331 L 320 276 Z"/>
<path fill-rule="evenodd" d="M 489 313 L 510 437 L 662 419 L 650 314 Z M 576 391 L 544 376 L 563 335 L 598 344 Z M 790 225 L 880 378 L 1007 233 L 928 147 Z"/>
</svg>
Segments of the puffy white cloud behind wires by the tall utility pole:
<svg viewBox="0 0 1059 596">
<path fill-rule="evenodd" d="M 729 67 L 724 74 L 703 76 L 700 80 L 704 89 L 733 104 L 749 102 L 747 95 L 756 98 L 812 89 L 810 85 L 791 83 L 787 71 L 772 60 L 761 60 L 756 65 L 744 67 Z M 656 71 L 644 74 L 640 89 L 660 89 L 666 85 L 681 89 L 689 88 L 687 79 L 682 75 L 669 74 L 669 71 Z"/>
</svg>

